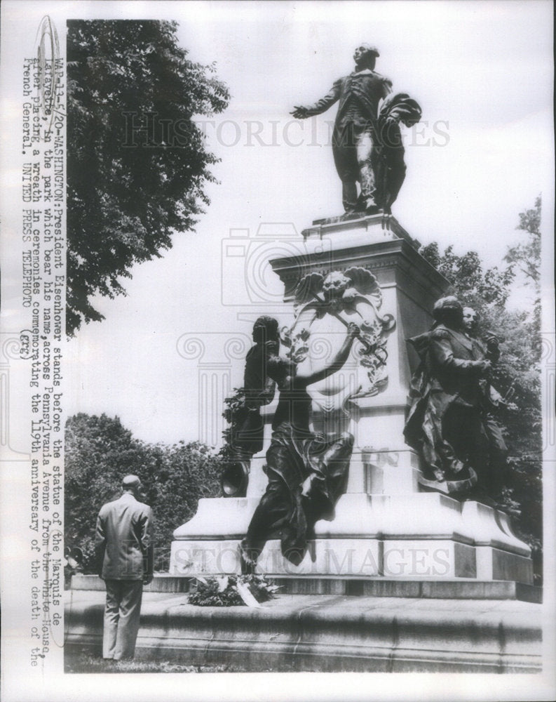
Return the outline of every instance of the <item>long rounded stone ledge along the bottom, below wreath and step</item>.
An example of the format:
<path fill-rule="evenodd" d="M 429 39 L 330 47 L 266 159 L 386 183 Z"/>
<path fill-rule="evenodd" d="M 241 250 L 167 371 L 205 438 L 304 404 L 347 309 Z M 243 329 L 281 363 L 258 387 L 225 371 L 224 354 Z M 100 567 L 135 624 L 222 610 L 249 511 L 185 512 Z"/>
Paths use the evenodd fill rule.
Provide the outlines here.
<path fill-rule="evenodd" d="M 163 579 L 164 588 L 170 581 L 187 582 L 187 578 Z M 317 581 L 311 578 L 310 582 Z M 421 592 L 421 596 L 395 597 L 395 590 L 388 594 L 384 588 L 388 582 L 392 583 L 381 580 L 383 587 L 376 592 L 360 590 L 359 597 L 336 592 L 281 595 L 261 609 L 194 607 L 188 604 L 187 594 L 147 591 L 135 658 L 240 672 L 541 670 L 542 608 L 508 598 L 510 583 L 486 583 L 482 593 L 474 593 L 483 595 L 477 602 L 470 597 L 452 599 L 452 585 L 438 581 L 414 584 L 414 593 Z M 410 583 L 396 584 L 398 592 L 409 592 Z M 430 599 L 430 594 L 442 595 L 439 585 L 447 586 L 444 596 Z M 377 592 L 382 596 L 377 597 Z M 485 599 L 488 592 L 494 597 Z M 102 656 L 104 598 L 101 591 L 66 592 L 68 672 L 80 672 L 81 653 Z"/>

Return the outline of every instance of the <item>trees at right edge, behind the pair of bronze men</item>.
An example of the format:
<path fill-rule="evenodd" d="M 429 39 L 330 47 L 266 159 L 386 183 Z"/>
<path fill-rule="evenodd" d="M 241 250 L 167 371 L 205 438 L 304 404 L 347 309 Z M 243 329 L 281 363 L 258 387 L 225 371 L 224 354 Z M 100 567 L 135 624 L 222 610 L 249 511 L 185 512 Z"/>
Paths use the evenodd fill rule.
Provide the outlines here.
<path fill-rule="evenodd" d="M 506 506 L 517 513 L 517 531 L 533 550 L 537 579 L 542 542 L 542 416 L 540 327 L 541 199 L 520 213 L 522 241 L 508 248 L 508 265 L 486 269 L 475 251 L 458 256 L 452 246 L 440 253 L 438 244 L 421 249 L 451 283 L 447 291 L 480 314 L 478 336 L 492 332 L 501 340 L 501 359 L 492 384 L 505 397 L 497 416 L 508 444 Z M 536 300 L 522 310 L 508 309 L 517 270 L 533 286 Z M 522 298 L 524 299 L 524 298 Z"/>

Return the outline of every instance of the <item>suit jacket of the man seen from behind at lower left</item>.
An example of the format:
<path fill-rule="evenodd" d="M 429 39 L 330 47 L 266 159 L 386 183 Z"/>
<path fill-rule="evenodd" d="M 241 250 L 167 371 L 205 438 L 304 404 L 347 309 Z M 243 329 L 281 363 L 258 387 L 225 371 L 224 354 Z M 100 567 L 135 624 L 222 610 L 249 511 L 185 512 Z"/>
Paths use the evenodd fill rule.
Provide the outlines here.
<path fill-rule="evenodd" d="M 153 572 L 153 519 L 149 505 L 130 493 L 102 506 L 95 555 L 104 580 L 142 580 Z"/>

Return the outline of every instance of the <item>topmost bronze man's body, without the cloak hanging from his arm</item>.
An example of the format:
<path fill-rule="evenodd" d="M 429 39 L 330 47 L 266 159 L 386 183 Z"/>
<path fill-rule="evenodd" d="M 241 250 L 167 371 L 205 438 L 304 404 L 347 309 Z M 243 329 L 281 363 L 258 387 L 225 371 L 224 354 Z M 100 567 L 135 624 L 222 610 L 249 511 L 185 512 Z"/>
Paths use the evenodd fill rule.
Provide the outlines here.
<path fill-rule="evenodd" d="M 339 100 L 332 134 L 334 164 L 342 183 L 342 201 L 346 214 L 378 211 L 377 187 L 371 163 L 372 147 L 377 140 L 379 102 L 391 93 L 392 84 L 374 72 L 379 52 L 374 46 L 361 44 L 353 53 L 355 71 L 337 80 L 330 93 L 311 107 L 296 105 L 291 114 L 306 119 L 325 112 Z M 361 192 L 357 197 L 359 181 Z"/>

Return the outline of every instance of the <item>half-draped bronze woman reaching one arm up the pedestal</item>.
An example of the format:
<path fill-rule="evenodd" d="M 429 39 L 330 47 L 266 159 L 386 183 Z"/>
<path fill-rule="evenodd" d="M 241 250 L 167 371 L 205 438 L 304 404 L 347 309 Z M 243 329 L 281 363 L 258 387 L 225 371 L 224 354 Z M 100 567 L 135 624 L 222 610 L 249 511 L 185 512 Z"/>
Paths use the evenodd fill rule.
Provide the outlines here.
<path fill-rule="evenodd" d="M 357 324 L 349 324 L 337 354 L 310 373 L 298 372 L 290 359 L 269 358 L 268 373 L 278 383 L 280 399 L 266 451 L 264 470 L 269 484 L 240 544 L 243 573 L 255 571 L 270 538 L 280 538 L 283 556 L 299 565 L 318 519 L 334 518 L 334 506 L 346 489 L 353 435 L 342 432 L 325 438 L 311 433 L 307 386 L 341 369 L 359 333 Z"/>

